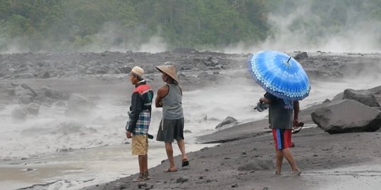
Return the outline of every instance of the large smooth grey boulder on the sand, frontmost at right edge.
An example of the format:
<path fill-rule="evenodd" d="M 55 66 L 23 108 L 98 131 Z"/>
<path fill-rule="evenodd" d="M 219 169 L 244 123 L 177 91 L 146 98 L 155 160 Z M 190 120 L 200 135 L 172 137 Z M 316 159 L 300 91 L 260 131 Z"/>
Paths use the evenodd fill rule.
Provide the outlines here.
<path fill-rule="evenodd" d="M 375 132 L 381 127 L 381 112 L 358 101 L 343 99 L 325 104 L 311 118 L 329 134 Z"/>

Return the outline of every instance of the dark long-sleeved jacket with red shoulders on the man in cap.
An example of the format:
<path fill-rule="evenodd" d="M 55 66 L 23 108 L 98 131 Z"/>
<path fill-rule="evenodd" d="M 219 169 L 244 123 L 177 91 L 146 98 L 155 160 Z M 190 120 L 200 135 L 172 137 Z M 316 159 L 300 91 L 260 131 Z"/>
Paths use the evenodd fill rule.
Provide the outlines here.
<path fill-rule="evenodd" d="M 128 126 L 126 126 L 128 132 L 133 132 L 139 115 L 143 110 L 150 110 L 151 112 L 153 94 L 150 85 L 144 80 L 135 84 L 135 89 L 131 96 L 130 119 Z"/>

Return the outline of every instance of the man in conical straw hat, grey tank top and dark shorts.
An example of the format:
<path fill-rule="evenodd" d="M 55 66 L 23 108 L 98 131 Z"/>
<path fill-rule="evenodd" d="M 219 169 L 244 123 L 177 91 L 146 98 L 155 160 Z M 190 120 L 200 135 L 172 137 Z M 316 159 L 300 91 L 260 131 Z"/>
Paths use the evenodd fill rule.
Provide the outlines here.
<path fill-rule="evenodd" d="M 181 87 L 179 87 L 179 79 L 176 75 L 176 69 L 172 65 L 157 66 L 157 70 L 162 72 L 162 80 L 167 82 L 157 91 L 155 105 L 157 108 L 163 108 L 163 118 L 157 132 L 157 141 L 164 141 L 165 151 L 169 160 L 169 168 L 164 172 L 176 172 L 174 163 L 174 151 L 172 142 L 174 139 L 181 151 L 181 166 L 189 165 L 188 157 L 186 156 L 185 142 L 183 136 L 184 116 L 182 107 Z"/>

